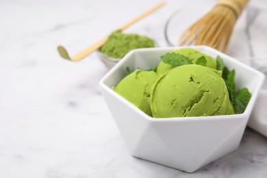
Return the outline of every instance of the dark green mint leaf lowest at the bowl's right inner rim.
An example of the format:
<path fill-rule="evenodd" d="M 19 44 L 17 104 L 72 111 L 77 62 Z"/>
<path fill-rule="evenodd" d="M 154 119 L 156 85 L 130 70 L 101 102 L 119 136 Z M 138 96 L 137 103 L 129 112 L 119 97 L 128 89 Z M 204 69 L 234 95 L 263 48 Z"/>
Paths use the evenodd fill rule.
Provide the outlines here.
<path fill-rule="evenodd" d="M 233 109 L 236 114 L 241 114 L 246 110 L 246 105 L 248 105 L 249 100 L 251 99 L 251 93 L 248 88 L 242 88 L 236 92 L 234 96 Z"/>

